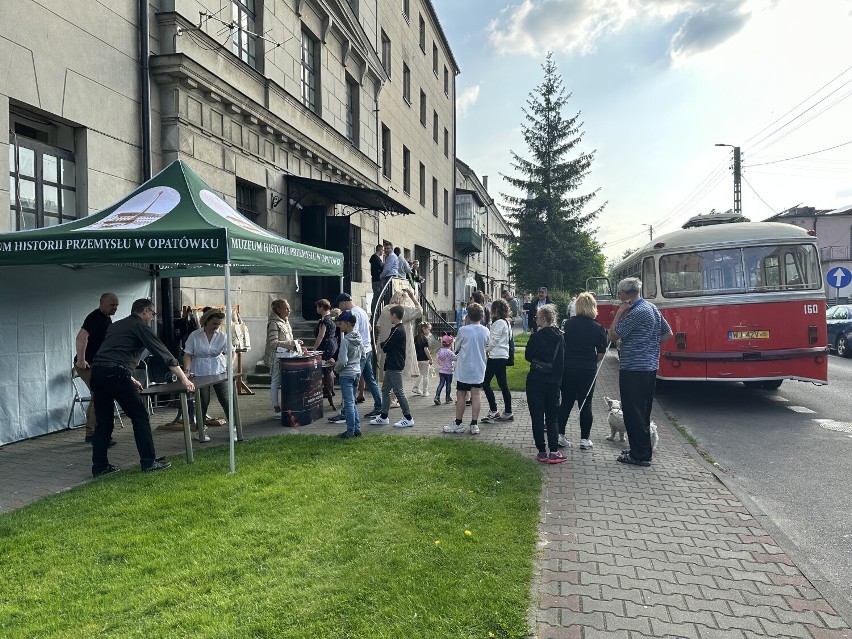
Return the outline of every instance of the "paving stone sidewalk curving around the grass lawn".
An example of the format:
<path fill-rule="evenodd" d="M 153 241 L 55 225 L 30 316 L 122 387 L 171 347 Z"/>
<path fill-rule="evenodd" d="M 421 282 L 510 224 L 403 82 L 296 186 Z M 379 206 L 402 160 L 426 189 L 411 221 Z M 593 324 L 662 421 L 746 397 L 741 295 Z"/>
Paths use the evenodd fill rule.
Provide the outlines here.
<path fill-rule="evenodd" d="M 618 397 L 617 366 L 616 358 L 608 356 L 598 380 L 594 449 L 570 448 L 568 462 L 541 466 L 540 555 L 530 636 L 852 639 L 847 622 L 734 494 L 687 452 L 658 408 L 654 419 L 660 444 L 653 466 L 615 462 L 623 446 L 604 440 L 609 428 L 603 397 Z M 282 428 L 271 414 L 268 390 L 256 390 L 254 396 L 239 398 L 247 438 L 341 430 L 326 423 Z M 515 421 L 483 425 L 479 438 L 532 458 L 526 402 L 523 393 L 513 397 Z M 411 403 L 413 428 L 365 425 L 365 432 L 471 437 L 440 432 L 451 421 L 453 406 L 434 406 L 431 397 L 414 397 Z M 362 413 L 370 408 L 369 403 L 360 407 Z M 213 402 L 214 416 L 217 408 Z M 158 409 L 152 424 L 168 422 L 174 414 L 175 409 Z M 227 443 L 227 429 L 208 433 L 212 441 L 194 441 L 196 450 Z M 83 435 L 82 429 L 62 431 L 0 447 L 0 513 L 90 481 L 91 448 Z M 576 415 L 568 436 L 579 439 Z M 138 472 L 129 424 L 117 428 L 115 438 L 110 461 L 128 469 L 123 472 Z M 181 432 L 156 430 L 154 438 L 158 454 L 182 456 Z M 239 466 L 237 448 L 238 472 Z"/>

